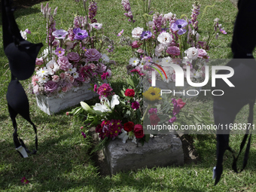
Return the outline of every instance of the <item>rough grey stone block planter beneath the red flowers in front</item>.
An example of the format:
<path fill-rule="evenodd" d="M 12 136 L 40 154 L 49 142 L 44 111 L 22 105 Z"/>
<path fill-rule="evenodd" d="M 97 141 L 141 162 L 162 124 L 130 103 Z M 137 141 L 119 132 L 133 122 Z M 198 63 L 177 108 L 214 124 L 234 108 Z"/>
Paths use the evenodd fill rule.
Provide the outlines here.
<path fill-rule="evenodd" d="M 163 166 L 183 166 L 184 154 L 181 139 L 174 134 L 161 134 L 137 146 L 130 139 L 123 143 L 114 139 L 103 153 L 112 175 L 117 172 Z"/>

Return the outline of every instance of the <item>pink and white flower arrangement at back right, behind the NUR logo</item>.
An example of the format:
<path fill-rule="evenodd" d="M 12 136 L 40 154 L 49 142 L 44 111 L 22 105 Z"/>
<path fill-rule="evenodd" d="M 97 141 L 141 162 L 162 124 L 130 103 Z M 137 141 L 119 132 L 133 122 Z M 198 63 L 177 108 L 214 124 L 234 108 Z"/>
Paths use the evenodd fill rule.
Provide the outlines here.
<path fill-rule="evenodd" d="M 123 0 L 122 5 L 125 11 L 131 10 L 129 0 Z M 144 5 L 142 18 L 145 25 L 134 28 L 132 38 L 120 37 L 120 43 L 129 45 L 134 51 L 134 56 L 130 58 L 130 63 L 126 67 L 127 71 L 136 70 L 141 75 L 151 77 L 151 72 L 156 70 L 149 67 L 152 63 L 160 66 L 175 63 L 181 66 L 184 72 L 189 67 L 192 81 L 202 82 L 205 77 L 205 66 L 209 62 L 207 50 L 212 40 L 217 39 L 219 33 L 227 34 L 218 23 L 219 19 L 214 20 L 209 36 L 206 37 L 207 40 L 200 41 L 197 18 L 201 5 L 198 2 L 193 5 L 190 18 L 182 15 L 180 19 L 172 12 L 153 14 L 153 11 L 150 11 L 151 0 L 144 1 Z M 128 11 L 129 15 L 132 15 L 131 13 Z M 163 81 L 175 81 L 175 71 L 170 67 L 163 67 L 163 69 L 167 76 Z M 157 74 L 157 78 L 161 79 L 161 75 Z"/>

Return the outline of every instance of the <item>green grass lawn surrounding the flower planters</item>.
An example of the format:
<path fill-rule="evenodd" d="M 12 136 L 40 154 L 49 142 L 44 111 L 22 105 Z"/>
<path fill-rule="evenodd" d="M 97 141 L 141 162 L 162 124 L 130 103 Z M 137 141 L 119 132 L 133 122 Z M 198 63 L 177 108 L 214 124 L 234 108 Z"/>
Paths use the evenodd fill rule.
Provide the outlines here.
<path fill-rule="evenodd" d="M 114 53 L 108 53 L 111 59 L 117 62 L 112 66 L 114 89 L 122 87 L 126 77 L 125 66 L 129 62 L 132 52 L 129 47 L 121 47 L 117 33 L 124 29 L 123 35 L 130 35 L 136 26 L 142 26 L 142 0 L 130 0 L 136 23 L 128 23 L 123 16 L 121 0 L 99 0 L 96 18 L 103 23 L 105 35 L 116 41 Z M 214 3 L 215 2 L 215 3 Z M 44 5 L 46 2 L 44 2 Z M 193 1 L 166 0 L 152 1 L 152 10 L 167 14 L 172 12 L 180 17 L 187 14 L 190 17 Z M 227 31 L 227 35 L 212 43 L 209 50 L 211 58 L 231 58 L 230 42 L 232 40 L 233 23 L 236 17 L 236 8 L 227 0 L 200 1 L 201 14 L 200 35 L 206 34 L 205 29 L 212 26 L 213 20 L 218 17 Z M 67 29 L 73 21 L 74 14 L 80 11 L 73 0 L 50 0 L 50 7 L 58 6 L 56 29 Z M 40 12 L 40 5 L 32 8 L 20 9 L 15 12 L 17 23 L 21 30 L 30 29 L 30 41 L 45 44 L 45 23 Z M 2 37 L 2 29 L 0 29 Z M 202 39 L 200 39 L 202 40 Z M 2 47 L 2 40 L 0 41 Z M 43 50 L 43 48 L 42 48 Z M 254 53 L 255 54 L 255 53 Z M 66 111 L 48 116 L 40 111 L 36 105 L 35 96 L 29 93 L 28 85 L 31 79 L 23 81 L 30 104 L 32 121 L 38 127 L 38 154 L 22 159 L 14 148 L 12 139 L 13 126 L 8 116 L 5 94 L 11 73 L 8 71 L 8 59 L 3 49 L 0 50 L 0 191 L 255 191 L 256 190 L 256 145 L 255 136 L 252 138 L 250 158 L 245 171 L 236 174 L 231 169 L 232 156 L 224 156 L 224 172 L 218 186 L 212 180 L 212 168 L 215 166 L 215 135 L 193 136 L 194 146 L 199 154 L 200 161 L 181 167 L 165 167 L 154 169 L 140 169 L 138 171 L 120 172 L 117 175 L 99 175 L 99 168 L 90 156 L 92 138 L 81 136 L 80 120 L 66 116 Z M 93 104 L 93 101 L 91 101 Z M 200 107 L 212 114 L 212 97 L 198 97 L 186 99 L 187 109 Z M 256 113 L 254 112 L 254 115 Z M 247 123 L 248 106 L 236 118 L 236 123 Z M 254 117 L 254 119 L 256 119 Z M 22 117 L 17 117 L 18 133 L 29 149 L 34 148 L 34 132 Z M 231 135 L 230 146 L 236 151 L 242 136 Z M 242 156 L 241 156 L 242 157 Z M 146 161 L 146 160 L 145 160 Z M 242 163 L 239 161 L 239 166 Z M 20 179 L 26 176 L 29 184 L 22 184 Z"/>

